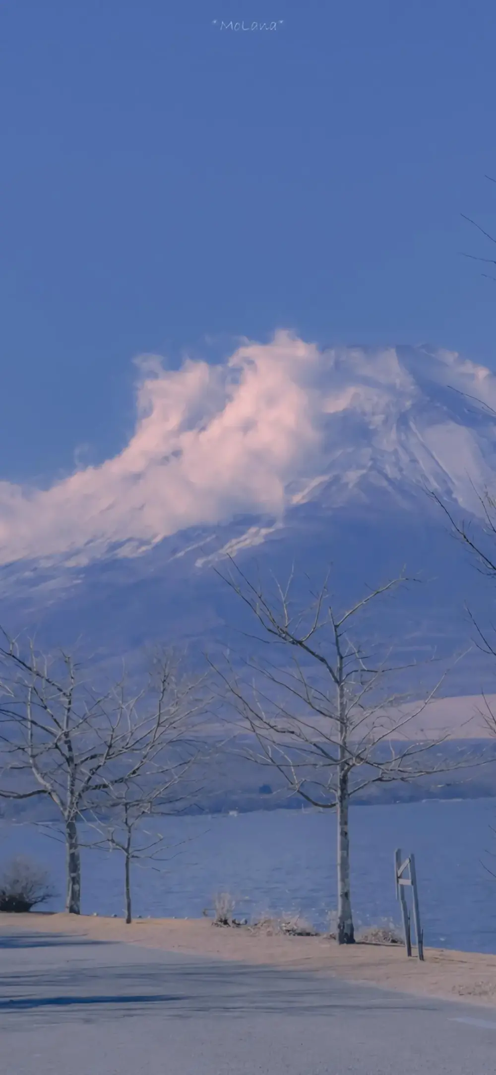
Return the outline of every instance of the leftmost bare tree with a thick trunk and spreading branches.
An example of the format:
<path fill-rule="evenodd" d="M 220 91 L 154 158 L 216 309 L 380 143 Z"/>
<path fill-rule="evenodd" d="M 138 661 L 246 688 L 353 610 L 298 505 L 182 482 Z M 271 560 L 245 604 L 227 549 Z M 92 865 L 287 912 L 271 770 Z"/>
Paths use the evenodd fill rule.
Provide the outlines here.
<path fill-rule="evenodd" d="M 64 651 L 48 659 L 3 632 L 0 644 L 0 798 L 48 799 L 67 848 L 67 903 L 81 913 L 78 826 L 111 789 L 130 784 L 189 720 L 201 717 L 205 677 L 180 678 L 174 660 L 155 662 L 136 693 L 120 680 L 103 691 Z"/>

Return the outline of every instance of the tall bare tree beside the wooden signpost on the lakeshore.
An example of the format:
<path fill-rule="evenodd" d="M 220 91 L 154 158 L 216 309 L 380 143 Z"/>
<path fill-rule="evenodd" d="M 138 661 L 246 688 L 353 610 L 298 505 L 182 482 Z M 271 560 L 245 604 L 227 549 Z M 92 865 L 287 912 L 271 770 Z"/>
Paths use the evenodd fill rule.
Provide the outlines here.
<path fill-rule="evenodd" d="M 258 743 L 253 758 L 276 766 L 289 788 L 307 803 L 336 809 L 337 940 L 352 944 L 350 800 L 373 785 L 411 780 L 453 768 L 442 751 L 434 749 L 448 735 L 433 740 L 422 732 L 419 736 L 418 718 L 443 676 L 421 702 L 412 702 L 411 692 L 391 692 L 388 686 L 399 673 L 417 665 L 394 668 L 389 653 L 378 659 L 350 633 L 370 605 L 375 610 L 381 598 L 408 582 L 405 575 L 369 590 L 339 613 L 330 601 L 325 579 L 312 594 L 310 606 L 293 614 L 293 573 L 283 590 L 276 582 L 277 596 L 271 600 L 260 584 L 253 585 L 231 562 L 235 576 L 220 577 L 262 627 L 262 639 L 258 637 L 265 644 L 262 651 L 267 651 L 267 643 L 273 645 L 266 657 L 243 659 L 243 669 L 250 670 L 249 682 L 233 666 L 229 655 L 227 669 L 213 668 L 223 685 L 224 702 L 234 710 L 237 721 L 242 717 L 242 727 L 248 726 Z M 283 659 L 274 662 L 272 654 L 277 646 L 282 647 Z"/>

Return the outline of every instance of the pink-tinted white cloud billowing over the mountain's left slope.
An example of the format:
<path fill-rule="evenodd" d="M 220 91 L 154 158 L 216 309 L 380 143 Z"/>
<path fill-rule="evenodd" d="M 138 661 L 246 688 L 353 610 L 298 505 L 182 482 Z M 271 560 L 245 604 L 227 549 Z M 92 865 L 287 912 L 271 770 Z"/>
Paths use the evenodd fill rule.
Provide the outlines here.
<path fill-rule="evenodd" d="M 137 420 L 127 447 L 47 490 L 0 483 L 0 562 L 72 555 L 111 543 L 147 546 L 235 513 L 285 507 L 285 485 L 318 448 L 317 347 L 276 333 L 246 342 L 222 366 L 177 371 L 138 361 Z"/>

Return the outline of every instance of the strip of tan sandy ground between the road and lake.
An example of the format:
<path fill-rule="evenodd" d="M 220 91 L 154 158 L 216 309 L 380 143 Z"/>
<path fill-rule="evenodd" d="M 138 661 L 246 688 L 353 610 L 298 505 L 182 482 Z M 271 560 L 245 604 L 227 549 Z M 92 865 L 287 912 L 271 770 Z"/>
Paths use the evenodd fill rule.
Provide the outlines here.
<path fill-rule="evenodd" d="M 0 914 L 0 932 L 35 930 L 72 933 L 128 944 L 306 971 L 321 971 L 349 981 L 496 1007 L 496 956 L 426 948 L 425 961 L 408 959 L 395 945 L 339 947 L 324 936 L 297 937 L 249 928 L 216 927 L 206 918 L 121 919 L 67 914 Z"/>

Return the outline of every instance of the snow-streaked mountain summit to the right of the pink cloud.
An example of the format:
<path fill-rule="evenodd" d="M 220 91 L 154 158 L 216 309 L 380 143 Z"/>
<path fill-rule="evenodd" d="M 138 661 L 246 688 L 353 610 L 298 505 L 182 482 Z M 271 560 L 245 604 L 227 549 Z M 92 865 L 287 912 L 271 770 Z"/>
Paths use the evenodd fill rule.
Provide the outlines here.
<path fill-rule="evenodd" d="M 487 411 L 496 408 L 496 377 L 488 370 L 424 347 L 325 358 L 321 472 L 293 502 L 322 496 L 329 483 L 329 506 L 369 499 L 374 487 L 402 498 L 423 485 L 480 510 L 472 482 L 490 482 L 496 462 L 496 415 Z"/>

